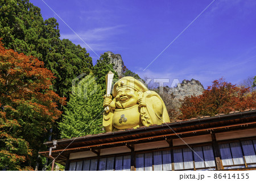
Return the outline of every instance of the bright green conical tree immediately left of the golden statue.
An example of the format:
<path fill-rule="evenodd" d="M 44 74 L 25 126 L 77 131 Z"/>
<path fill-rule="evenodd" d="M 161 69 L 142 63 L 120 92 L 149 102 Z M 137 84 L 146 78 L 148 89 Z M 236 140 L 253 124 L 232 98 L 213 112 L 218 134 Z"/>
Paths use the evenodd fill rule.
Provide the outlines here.
<path fill-rule="evenodd" d="M 75 94 L 70 95 L 59 123 L 61 138 L 72 138 L 103 132 L 102 112 L 104 90 L 92 73 L 77 83 Z"/>

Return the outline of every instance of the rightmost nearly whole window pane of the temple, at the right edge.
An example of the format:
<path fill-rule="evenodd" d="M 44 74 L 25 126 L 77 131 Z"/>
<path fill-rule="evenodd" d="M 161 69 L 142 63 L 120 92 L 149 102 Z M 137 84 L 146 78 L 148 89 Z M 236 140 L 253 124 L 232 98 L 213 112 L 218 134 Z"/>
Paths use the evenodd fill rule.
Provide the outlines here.
<path fill-rule="evenodd" d="M 255 163 L 256 156 L 252 141 L 242 141 L 243 153 L 245 154 L 246 163 Z"/>

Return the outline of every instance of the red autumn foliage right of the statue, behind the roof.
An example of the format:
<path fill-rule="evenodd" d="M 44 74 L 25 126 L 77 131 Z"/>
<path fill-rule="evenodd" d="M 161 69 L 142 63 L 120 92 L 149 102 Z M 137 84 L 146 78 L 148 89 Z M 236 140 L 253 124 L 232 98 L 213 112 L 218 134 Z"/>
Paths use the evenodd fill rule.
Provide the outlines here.
<path fill-rule="evenodd" d="M 221 78 L 213 81 L 213 85 L 203 94 L 185 97 L 181 103 L 179 118 L 214 116 L 217 113 L 243 111 L 248 108 L 256 108 L 256 91 L 250 92 L 250 88 L 232 85 Z"/>

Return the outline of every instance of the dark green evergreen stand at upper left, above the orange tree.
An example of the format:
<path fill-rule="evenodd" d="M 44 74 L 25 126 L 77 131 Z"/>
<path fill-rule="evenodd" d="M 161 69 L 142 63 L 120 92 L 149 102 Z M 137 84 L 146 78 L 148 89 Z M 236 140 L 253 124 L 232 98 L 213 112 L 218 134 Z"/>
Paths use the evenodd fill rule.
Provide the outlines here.
<path fill-rule="evenodd" d="M 39 7 L 28 0 L 0 2 L 0 37 L 6 48 L 43 61 L 54 73 L 53 89 L 61 97 L 68 98 L 72 79 L 81 73 L 89 74 L 93 68 L 85 48 L 60 40 L 56 19 L 44 21 Z"/>

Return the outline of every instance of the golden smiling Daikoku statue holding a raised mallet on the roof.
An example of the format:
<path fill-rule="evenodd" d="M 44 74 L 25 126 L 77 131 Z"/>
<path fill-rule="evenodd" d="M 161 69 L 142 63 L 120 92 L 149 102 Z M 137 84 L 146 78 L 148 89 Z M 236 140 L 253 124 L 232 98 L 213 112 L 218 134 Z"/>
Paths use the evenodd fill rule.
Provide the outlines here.
<path fill-rule="evenodd" d="M 112 100 L 110 90 L 113 76 L 111 71 L 106 75 L 103 103 L 103 126 L 106 132 L 170 122 L 160 96 L 133 77 L 123 77 L 114 84 Z"/>

